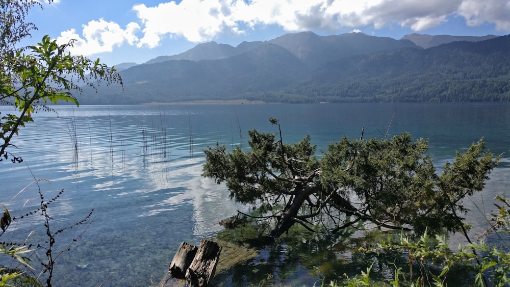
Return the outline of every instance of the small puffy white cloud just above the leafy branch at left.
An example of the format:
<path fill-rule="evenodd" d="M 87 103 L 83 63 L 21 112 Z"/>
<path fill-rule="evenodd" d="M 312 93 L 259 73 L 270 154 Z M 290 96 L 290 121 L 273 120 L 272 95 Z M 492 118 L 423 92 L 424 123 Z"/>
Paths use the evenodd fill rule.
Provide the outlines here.
<path fill-rule="evenodd" d="M 74 39 L 74 46 L 70 48 L 71 54 L 88 56 L 111 52 L 114 46 L 136 44 L 139 39 L 135 33 L 139 30 L 140 26 L 135 22 L 127 24 L 126 28 L 122 29 L 115 22 L 92 20 L 83 25 L 82 35 L 78 35 L 75 29 L 67 30 L 60 34 L 57 42 L 62 44 Z"/>

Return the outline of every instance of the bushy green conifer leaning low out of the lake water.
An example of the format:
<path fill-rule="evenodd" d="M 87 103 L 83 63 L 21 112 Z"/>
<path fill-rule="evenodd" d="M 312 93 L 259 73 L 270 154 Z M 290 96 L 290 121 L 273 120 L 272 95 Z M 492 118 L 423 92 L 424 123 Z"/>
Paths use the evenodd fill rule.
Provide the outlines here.
<path fill-rule="evenodd" d="M 216 144 L 205 150 L 202 176 L 225 182 L 230 197 L 258 210 L 239 212 L 269 222 L 267 235 L 279 237 L 298 223 L 310 231 L 337 232 L 357 223 L 414 230 L 420 234 L 463 232 L 468 226 L 462 201 L 481 191 L 500 156 L 483 140 L 456 154 L 438 175 L 428 142 L 408 133 L 391 139 L 350 140 L 328 145 L 321 158 L 309 136 L 286 144 L 277 134 L 249 131 L 250 150 L 227 151 Z"/>

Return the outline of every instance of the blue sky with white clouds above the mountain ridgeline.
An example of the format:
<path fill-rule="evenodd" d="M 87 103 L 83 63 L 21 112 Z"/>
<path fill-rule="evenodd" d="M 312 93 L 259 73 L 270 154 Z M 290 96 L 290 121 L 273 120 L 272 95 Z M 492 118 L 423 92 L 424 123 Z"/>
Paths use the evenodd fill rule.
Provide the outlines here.
<path fill-rule="evenodd" d="M 362 32 L 400 39 L 406 34 L 508 35 L 510 0 L 39 0 L 28 20 L 67 43 L 71 54 L 107 65 L 144 63 L 199 43 L 237 46 L 287 33 Z M 45 2 L 43 2 L 45 1 Z"/>

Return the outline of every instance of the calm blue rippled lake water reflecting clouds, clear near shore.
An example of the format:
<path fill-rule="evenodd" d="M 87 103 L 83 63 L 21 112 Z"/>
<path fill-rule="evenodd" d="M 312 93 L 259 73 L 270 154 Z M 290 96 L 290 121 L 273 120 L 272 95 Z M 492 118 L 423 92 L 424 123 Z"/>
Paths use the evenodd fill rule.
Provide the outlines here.
<path fill-rule="evenodd" d="M 60 249 L 78 239 L 57 258 L 58 286 L 146 286 L 159 282 L 182 241 L 198 244 L 220 230 L 220 219 L 243 208 L 230 201 L 224 187 L 200 176 L 203 152 L 216 142 L 247 146 L 248 129 L 276 132 L 269 117 L 279 119 L 284 141 L 310 134 L 318 149 L 342 135 L 381 137 L 410 132 L 429 139 L 438 165 L 452 160 L 480 138 L 494 153 L 510 149 L 510 105 L 338 104 L 240 106 L 81 106 L 37 113 L 12 142 L 10 152 L 21 164 L 2 162 L 0 202 L 18 216 L 39 206 L 34 177 L 46 199 L 65 189 L 49 208 L 53 230 L 94 213 L 85 224 L 57 236 Z M 2 114 L 12 111 L 0 107 Z M 240 135 L 239 131 L 242 131 Z M 74 148 L 73 142 L 77 144 Z M 466 205 L 490 213 L 494 195 L 510 184 L 505 154 L 482 195 Z M 22 192 L 20 192 L 22 191 Z M 20 193 L 19 193 L 20 192 Z M 19 194 L 18 194 L 19 193 Z M 483 209 L 483 205 L 486 209 Z M 483 216 L 470 215 L 473 233 L 486 227 Z M 19 220 L 2 241 L 45 240 L 41 217 Z M 461 240 L 453 238 L 452 240 Z M 59 249 L 59 250 L 60 250 Z M 55 253 L 57 254 L 57 253 Z M 0 258 L 6 260 L 6 258 Z M 35 267 L 37 263 L 33 263 Z M 320 281 L 307 267 L 280 274 L 292 285 Z M 151 278 L 152 276 L 152 278 Z M 257 282 L 253 282 L 258 284 Z"/>

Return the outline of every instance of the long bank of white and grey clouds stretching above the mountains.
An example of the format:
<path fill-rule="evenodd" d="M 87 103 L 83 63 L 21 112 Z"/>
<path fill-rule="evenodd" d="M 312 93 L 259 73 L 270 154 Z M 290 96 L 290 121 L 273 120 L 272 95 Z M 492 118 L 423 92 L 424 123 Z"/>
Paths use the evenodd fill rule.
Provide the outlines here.
<path fill-rule="evenodd" d="M 471 26 L 493 23 L 501 31 L 510 31 L 510 0 L 182 0 L 154 7 L 137 4 L 132 10 L 139 24 L 132 22 L 121 29 L 100 19 L 84 25 L 82 36 L 69 30 L 59 38 L 77 38 L 77 53 L 90 55 L 122 44 L 154 48 L 165 37 L 210 41 L 267 25 L 288 32 L 336 33 L 392 24 L 423 31 L 448 17 L 461 16 Z"/>

